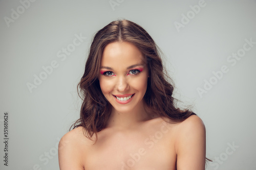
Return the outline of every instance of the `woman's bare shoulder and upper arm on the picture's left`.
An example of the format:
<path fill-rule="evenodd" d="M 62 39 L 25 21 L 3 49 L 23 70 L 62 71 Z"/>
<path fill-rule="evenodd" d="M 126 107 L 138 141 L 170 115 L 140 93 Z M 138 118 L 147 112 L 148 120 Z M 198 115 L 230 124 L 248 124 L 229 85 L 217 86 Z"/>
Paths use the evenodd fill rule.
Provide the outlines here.
<path fill-rule="evenodd" d="M 83 128 L 78 127 L 62 136 L 58 146 L 60 170 L 84 169 L 82 159 L 86 154 L 90 140 L 83 134 Z"/>

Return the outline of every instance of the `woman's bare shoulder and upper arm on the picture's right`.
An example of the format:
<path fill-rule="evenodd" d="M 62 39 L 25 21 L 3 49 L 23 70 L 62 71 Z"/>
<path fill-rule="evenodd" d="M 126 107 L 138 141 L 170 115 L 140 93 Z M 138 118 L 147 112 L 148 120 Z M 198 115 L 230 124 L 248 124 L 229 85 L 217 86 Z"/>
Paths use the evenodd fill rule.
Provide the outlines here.
<path fill-rule="evenodd" d="M 202 119 L 191 115 L 176 130 L 177 169 L 205 169 L 206 135 Z"/>

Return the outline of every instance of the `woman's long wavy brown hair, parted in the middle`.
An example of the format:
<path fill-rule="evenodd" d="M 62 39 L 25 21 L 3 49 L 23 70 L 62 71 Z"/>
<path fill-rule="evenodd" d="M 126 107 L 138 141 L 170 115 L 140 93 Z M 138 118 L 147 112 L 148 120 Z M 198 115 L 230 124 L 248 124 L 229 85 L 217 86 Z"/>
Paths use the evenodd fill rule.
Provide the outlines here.
<path fill-rule="evenodd" d="M 86 131 L 85 135 L 92 139 L 94 134 L 105 128 L 111 114 L 111 104 L 101 92 L 97 77 L 104 47 L 116 41 L 134 44 L 144 56 L 150 76 L 144 95 L 147 109 L 162 118 L 173 119 L 177 123 L 195 114 L 188 108 L 177 107 L 178 100 L 173 97 L 174 82 L 163 67 L 160 49 L 152 37 L 141 26 L 122 19 L 109 23 L 93 38 L 84 74 L 77 85 L 78 95 L 82 99 L 80 118 L 70 130 L 72 127 L 75 129 L 82 126 Z"/>

